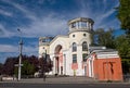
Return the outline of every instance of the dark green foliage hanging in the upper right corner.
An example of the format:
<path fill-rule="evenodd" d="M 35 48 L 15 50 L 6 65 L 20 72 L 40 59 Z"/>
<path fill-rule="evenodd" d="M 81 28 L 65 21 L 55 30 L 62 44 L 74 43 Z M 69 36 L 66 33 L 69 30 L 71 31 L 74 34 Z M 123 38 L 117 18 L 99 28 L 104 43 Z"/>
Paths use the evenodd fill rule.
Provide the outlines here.
<path fill-rule="evenodd" d="M 130 38 L 130 0 L 119 0 L 119 2 L 117 17 L 121 22 L 121 28 L 126 30 Z"/>

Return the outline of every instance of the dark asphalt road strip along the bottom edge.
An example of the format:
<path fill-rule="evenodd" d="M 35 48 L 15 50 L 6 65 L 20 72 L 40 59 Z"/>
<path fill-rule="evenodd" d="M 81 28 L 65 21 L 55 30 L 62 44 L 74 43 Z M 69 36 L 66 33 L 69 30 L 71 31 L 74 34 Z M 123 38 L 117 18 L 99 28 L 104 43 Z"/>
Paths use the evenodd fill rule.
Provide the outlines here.
<path fill-rule="evenodd" d="M 130 88 L 130 84 L 31 84 L 0 83 L 0 88 Z"/>

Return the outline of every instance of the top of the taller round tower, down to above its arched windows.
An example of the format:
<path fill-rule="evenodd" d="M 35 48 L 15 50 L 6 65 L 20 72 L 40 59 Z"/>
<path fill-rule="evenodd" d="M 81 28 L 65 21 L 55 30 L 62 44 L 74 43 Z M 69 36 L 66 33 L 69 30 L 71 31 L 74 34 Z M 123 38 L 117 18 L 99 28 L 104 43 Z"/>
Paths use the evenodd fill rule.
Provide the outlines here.
<path fill-rule="evenodd" d="M 80 43 L 82 39 L 86 39 L 88 46 L 91 45 L 91 33 L 93 32 L 93 20 L 87 17 L 78 17 L 68 21 L 69 38 L 72 40 L 77 40 L 77 43 Z"/>

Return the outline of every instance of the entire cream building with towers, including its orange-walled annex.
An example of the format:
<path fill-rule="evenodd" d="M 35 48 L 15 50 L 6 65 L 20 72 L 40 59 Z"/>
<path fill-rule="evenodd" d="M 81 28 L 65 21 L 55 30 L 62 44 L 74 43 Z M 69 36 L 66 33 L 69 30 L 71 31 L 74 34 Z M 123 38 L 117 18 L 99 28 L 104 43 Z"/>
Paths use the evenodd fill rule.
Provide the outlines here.
<path fill-rule="evenodd" d="M 53 62 L 50 75 L 89 76 L 105 80 L 110 79 L 108 74 L 113 73 L 113 79 L 121 79 L 121 63 L 117 51 L 90 47 L 93 24 L 91 18 L 78 17 L 68 21 L 69 32 L 66 36 L 39 38 L 39 58 L 46 52 Z M 110 71 L 112 66 L 114 72 Z"/>

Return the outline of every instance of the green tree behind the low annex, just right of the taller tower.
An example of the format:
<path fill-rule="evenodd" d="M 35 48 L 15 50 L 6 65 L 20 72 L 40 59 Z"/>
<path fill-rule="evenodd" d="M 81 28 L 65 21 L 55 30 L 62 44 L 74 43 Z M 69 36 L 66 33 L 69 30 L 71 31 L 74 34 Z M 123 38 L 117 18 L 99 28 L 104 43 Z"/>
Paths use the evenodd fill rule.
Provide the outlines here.
<path fill-rule="evenodd" d="M 114 30 L 109 28 L 108 30 L 104 30 L 103 28 L 99 28 L 94 32 L 94 42 L 96 46 L 105 46 L 107 48 L 115 48 L 114 43 Z"/>

